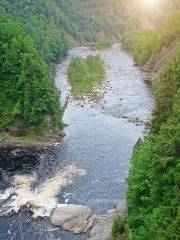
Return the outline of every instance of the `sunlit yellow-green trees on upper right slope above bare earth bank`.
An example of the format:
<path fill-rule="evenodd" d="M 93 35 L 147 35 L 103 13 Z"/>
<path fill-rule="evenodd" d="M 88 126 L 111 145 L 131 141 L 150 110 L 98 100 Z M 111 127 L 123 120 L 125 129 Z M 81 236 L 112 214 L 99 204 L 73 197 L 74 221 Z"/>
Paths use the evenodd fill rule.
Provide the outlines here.
<path fill-rule="evenodd" d="M 154 30 L 138 30 L 124 34 L 123 45 L 133 54 L 138 65 L 150 61 L 163 48 L 180 36 L 180 10 L 173 12 L 166 22 Z"/>

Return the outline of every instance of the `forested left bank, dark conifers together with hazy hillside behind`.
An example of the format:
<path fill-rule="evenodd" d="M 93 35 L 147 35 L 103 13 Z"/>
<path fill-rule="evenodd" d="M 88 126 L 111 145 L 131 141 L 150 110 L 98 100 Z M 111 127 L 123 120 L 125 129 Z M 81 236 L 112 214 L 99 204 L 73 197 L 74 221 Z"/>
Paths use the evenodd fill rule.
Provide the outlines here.
<path fill-rule="evenodd" d="M 60 130 L 51 64 L 64 57 L 70 39 L 94 42 L 101 32 L 118 37 L 133 27 L 116 0 L 2 0 L 0 14 L 0 127 L 18 136 Z"/>

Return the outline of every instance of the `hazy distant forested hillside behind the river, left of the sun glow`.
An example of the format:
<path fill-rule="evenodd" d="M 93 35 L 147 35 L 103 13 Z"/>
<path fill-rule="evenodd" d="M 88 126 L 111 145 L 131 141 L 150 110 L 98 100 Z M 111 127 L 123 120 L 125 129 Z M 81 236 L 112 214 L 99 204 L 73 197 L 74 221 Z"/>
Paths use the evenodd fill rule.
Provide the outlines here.
<path fill-rule="evenodd" d="M 69 36 L 96 41 L 98 32 L 119 35 L 133 23 L 123 3 L 80 0 L 1 0 L 0 12 L 6 14 L 31 35 L 46 62 L 62 57 Z"/>

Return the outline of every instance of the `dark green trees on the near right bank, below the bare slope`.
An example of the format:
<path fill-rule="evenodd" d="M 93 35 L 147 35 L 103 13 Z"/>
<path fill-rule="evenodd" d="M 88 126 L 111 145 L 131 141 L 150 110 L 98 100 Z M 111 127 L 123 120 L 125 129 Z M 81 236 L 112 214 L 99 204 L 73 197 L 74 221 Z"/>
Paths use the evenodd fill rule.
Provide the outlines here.
<path fill-rule="evenodd" d="M 180 49 L 154 80 L 150 135 L 136 146 L 128 177 L 132 239 L 179 239 Z"/>

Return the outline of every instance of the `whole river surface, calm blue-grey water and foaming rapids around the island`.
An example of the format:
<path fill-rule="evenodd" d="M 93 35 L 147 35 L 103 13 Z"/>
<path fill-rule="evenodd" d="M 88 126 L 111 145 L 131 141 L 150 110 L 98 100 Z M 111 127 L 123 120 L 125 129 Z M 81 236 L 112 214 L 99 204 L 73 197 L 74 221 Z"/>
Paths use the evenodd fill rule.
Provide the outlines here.
<path fill-rule="evenodd" d="M 101 98 L 77 101 L 70 96 L 67 67 L 73 56 L 89 54 L 99 54 L 106 64 L 104 84 L 97 89 Z M 16 158 L 17 151 L 8 161 L 1 157 L 0 240 L 87 239 L 49 224 L 57 204 L 84 204 L 104 213 L 125 198 L 133 146 L 153 109 L 148 77 L 118 44 L 100 52 L 69 51 L 55 79 L 62 105 L 69 98 L 66 136 L 56 149 L 36 157 Z"/>

